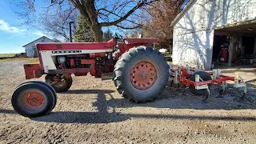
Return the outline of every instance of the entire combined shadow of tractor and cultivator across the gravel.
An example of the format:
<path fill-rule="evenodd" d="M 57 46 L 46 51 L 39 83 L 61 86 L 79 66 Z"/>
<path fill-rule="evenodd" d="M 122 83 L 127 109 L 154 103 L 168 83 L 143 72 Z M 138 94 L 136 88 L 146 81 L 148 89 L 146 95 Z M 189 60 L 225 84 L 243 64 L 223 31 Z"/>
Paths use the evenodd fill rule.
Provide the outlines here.
<path fill-rule="evenodd" d="M 212 86 L 210 98 L 202 102 L 200 97 L 196 97 L 186 91 L 182 94 L 182 89 L 164 90 L 159 98 L 154 102 L 134 103 L 127 102 L 124 98 L 114 98 L 114 90 L 70 90 L 68 94 L 97 94 L 97 101 L 93 106 L 97 107 L 97 112 L 74 112 L 57 111 L 39 117 L 31 118 L 40 122 L 57 123 L 110 123 L 123 122 L 130 118 L 173 118 L 173 119 L 197 119 L 197 120 L 224 120 L 224 121 L 256 121 L 254 117 L 211 117 L 204 115 L 172 115 L 172 114 L 122 114 L 116 112 L 117 108 L 130 107 L 154 107 L 169 109 L 194 109 L 194 110 L 243 110 L 256 109 L 256 94 L 254 85 L 248 84 L 248 94 L 244 101 L 239 101 L 240 89 L 229 88 L 223 98 L 214 98 L 218 95 L 218 86 Z M 255 100 L 255 101 L 254 101 Z M 252 102 L 254 101 L 254 102 Z M 109 111 L 113 109 L 111 112 Z"/>

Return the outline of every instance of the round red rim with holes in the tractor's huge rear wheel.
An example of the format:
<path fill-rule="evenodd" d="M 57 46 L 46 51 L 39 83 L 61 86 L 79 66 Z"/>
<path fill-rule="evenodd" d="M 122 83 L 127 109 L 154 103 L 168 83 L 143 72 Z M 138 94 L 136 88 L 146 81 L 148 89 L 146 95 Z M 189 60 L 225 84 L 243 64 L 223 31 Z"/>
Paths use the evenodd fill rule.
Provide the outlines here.
<path fill-rule="evenodd" d="M 157 70 L 150 62 L 138 62 L 130 70 L 130 82 L 138 90 L 149 89 L 157 78 Z"/>

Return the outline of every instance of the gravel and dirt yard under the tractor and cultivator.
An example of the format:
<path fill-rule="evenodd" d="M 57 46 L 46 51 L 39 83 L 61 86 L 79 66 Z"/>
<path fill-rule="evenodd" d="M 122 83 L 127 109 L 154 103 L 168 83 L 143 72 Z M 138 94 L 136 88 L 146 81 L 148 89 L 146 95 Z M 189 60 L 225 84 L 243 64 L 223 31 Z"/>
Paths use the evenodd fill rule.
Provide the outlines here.
<path fill-rule="evenodd" d="M 215 98 L 218 86 L 212 86 L 206 102 L 166 87 L 156 101 L 135 104 L 122 98 L 111 80 L 73 77 L 50 114 L 25 118 L 10 102 L 15 87 L 26 82 L 25 62 L 0 62 L 0 143 L 256 142 L 256 82 L 247 83 L 244 101 L 242 89 L 232 87 Z"/>

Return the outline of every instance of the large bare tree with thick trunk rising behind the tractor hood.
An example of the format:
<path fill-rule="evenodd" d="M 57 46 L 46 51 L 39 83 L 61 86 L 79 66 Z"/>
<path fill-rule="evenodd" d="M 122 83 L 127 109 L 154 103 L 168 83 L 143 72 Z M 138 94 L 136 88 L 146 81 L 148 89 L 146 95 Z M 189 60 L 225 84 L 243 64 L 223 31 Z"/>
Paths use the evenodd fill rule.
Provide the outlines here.
<path fill-rule="evenodd" d="M 46 0 L 41 1 L 48 2 Z M 62 14 L 63 10 L 66 11 L 63 13 L 66 14 L 66 16 L 77 11 L 85 20 L 86 25 L 90 26 L 94 34 L 95 42 L 102 42 L 103 26 L 118 26 L 122 29 L 136 28 L 139 26 L 138 22 L 131 20 L 130 16 L 135 14 L 136 10 L 149 6 L 156 1 L 158 0 L 51 0 L 48 2 L 47 7 L 41 7 L 39 10 L 45 10 L 43 15 L 45 15 L 48 20 L 48 17 Z M 36 0 L 21 0 L 16 3 L 16 6 L 20 8 L 17 14 L 20 18 L 26 18 L 26 24 L 31 24 L 33 19 L 38 17 L 35 2 Z M 64 20 L 66 18 L 64 18 Z M 122 22 L 124 21 L 131 22 L 133 25 L 123 26 Z M 58 22 L 57 20 L 57 22 L 49 22 L 48 24 L 64 22 Z"/>

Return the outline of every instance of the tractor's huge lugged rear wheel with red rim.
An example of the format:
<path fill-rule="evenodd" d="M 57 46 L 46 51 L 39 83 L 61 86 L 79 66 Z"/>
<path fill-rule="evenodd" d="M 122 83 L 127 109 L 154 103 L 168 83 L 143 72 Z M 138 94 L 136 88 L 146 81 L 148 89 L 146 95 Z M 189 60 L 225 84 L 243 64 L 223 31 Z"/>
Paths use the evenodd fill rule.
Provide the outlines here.
<path fill-rule="evenodd" d="M 114 85 L 119 94 L 134 102 L 154 101 L 169 77 L 166 58 L 148 46 L 134 47 L 122 54 L 114 69 Z"/>

